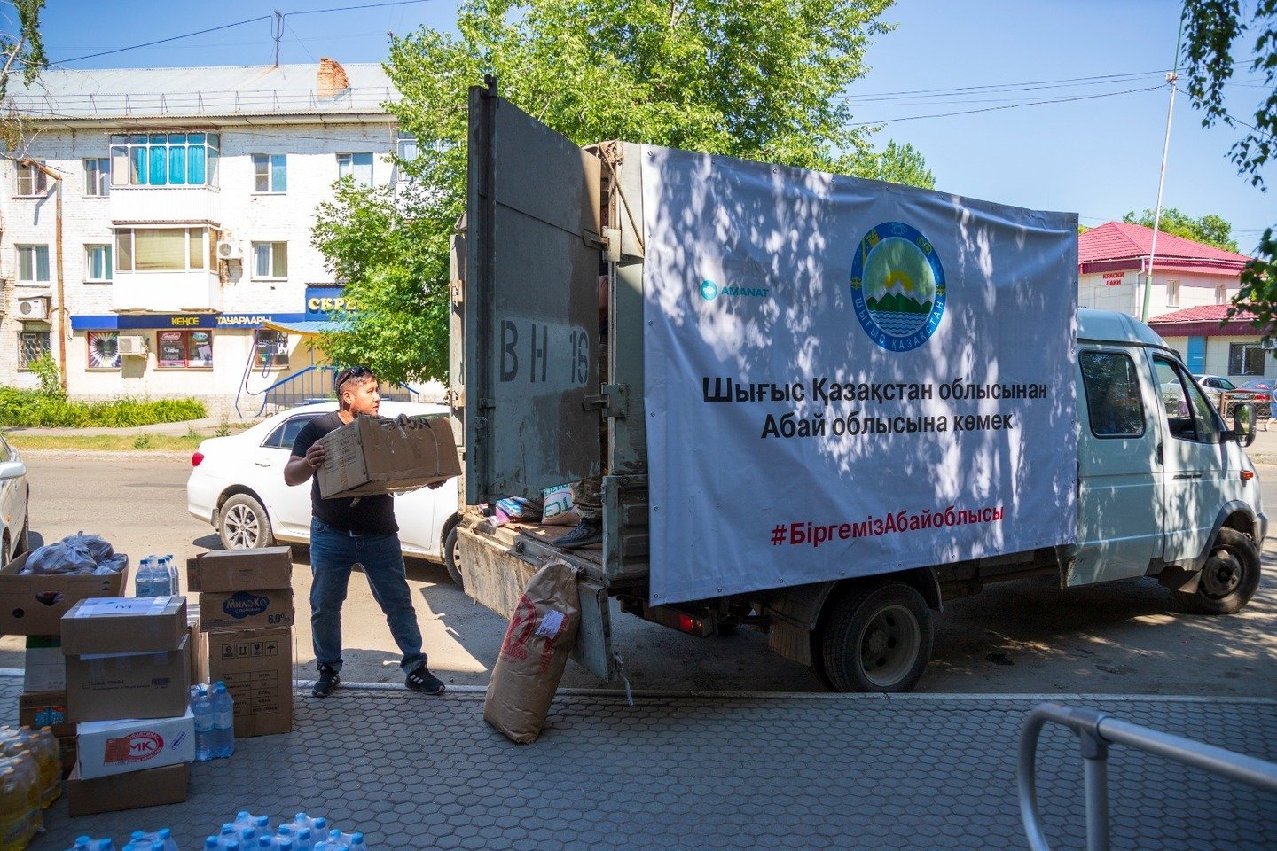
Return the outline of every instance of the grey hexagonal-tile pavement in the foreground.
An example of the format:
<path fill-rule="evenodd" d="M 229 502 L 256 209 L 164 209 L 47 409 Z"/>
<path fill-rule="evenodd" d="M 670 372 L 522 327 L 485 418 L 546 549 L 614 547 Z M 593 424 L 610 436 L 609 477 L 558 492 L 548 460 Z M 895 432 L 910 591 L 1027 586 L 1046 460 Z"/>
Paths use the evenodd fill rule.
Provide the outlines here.
<path fill-rule="evenodd" d="M 0 676 L 15 717 L 22 681 Z M 483 694 L 299 692 L 290 735 L 192 768 L 185 804 L 70 819 L 34 851 L 167 825 L 183 851 L 238 810 L 305 810 L 411 848 L 1024 848 L 1020 725 L 1039 700 L 951 695 L 559 694 L 534 745 L 483 721 Z M 1277 702 L 1068 700 L 1277 762 Z M 1039 800 L 1056 848 L 1085 846 L 1071 734 L 1048 726 Z M 1115 848 L 1277 848 L 1277 797 L 1115 746 Z"/>

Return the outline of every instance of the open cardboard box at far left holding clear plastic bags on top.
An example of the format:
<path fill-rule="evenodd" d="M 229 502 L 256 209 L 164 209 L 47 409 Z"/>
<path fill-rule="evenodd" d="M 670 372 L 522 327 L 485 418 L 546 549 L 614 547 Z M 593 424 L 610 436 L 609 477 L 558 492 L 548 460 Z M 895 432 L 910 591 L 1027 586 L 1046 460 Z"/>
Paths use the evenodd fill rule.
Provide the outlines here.
<path fill-rule="evenodd" d="M 119 597 L 129 566 L 119 573 L 19 574 L 29 552 L 0 568 L 0 635 L 57 635 L 63 615 L 86 597 Z"/>

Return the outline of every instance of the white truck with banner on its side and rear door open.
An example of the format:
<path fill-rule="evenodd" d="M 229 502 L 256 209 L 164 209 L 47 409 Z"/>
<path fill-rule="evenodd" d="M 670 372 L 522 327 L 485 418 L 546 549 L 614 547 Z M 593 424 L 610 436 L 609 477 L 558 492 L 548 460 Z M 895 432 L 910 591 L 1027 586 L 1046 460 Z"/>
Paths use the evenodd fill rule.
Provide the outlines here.
<path fill-rule="evenodd" d="M 944 603 L 991 582 L 1156 575 L 1207 614 L 1258 586 L 1250 412 L 1227 427 L 1149 328 L 1077 309 L 1075 216 L 581 149 L 489 80 L 452 293 L 446 560 L 507 616 L 538 565 L 577 565 L 600 677 L 617 610 L 904 692 Z M 593 476 L 599 547 L 481 509 Z"/>

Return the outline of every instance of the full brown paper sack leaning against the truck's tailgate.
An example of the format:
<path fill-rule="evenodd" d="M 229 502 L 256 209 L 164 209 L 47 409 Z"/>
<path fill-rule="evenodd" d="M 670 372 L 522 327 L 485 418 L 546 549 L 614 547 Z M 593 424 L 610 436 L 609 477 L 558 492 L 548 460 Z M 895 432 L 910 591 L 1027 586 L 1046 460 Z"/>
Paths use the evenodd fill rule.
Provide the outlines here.
<path fill-rule="evenodd" d="M 511 741 L 536 741 L 581 623 L 576 570 L 554 560 L 538 570 L 518 600 L 492 670 L 484 721 Z"/>

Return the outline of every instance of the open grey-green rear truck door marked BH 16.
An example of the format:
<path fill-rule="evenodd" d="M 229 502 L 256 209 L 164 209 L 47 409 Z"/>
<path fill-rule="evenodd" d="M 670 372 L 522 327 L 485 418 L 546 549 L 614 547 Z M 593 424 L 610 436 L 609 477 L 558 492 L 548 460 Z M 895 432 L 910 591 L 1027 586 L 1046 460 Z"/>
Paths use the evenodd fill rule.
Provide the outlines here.
<path fill-rule="evenodd" d="M 598 476 L 598 158 L 475 87 L 466 216 L 466 501 Z"/>

